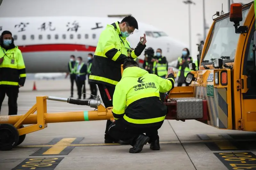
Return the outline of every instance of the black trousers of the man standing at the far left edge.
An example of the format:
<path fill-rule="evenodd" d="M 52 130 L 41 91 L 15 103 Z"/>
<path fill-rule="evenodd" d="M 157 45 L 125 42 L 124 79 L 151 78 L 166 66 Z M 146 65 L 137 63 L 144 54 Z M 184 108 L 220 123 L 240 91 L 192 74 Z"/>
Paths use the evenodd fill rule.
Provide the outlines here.
<path fill-rule="evenodd" d="M 2 103 L 4 101 L 5 94 L 8 96 L 8 107 L 9 113 L 8 115 L 17 115 L 18 112 L 18 99 L 19 87 L 11 87 L 11 86 L 2 86 L 0 85 L 0 113 Z"/>

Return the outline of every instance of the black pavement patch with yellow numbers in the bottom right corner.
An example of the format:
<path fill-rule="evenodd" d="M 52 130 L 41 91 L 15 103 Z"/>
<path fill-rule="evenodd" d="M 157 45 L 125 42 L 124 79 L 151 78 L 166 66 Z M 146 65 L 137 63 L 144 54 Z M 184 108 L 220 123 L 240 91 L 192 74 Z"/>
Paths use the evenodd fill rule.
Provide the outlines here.
<path fill-rule="evenodd" d="M 256 169 L 256 155 L 252 152 L 213 153 L 229 170 Z"/>

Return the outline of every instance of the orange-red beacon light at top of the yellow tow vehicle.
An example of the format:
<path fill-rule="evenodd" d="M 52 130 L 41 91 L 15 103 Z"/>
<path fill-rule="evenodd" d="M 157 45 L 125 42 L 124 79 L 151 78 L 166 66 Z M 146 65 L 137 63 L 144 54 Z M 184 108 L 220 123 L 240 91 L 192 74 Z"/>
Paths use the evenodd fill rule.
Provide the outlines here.
<path fill-rule="evenodd" d="M 239 22 L 243 20 L 242 4 L 233 3 L 230 5 L 229 20 L 239 26 Z"/>

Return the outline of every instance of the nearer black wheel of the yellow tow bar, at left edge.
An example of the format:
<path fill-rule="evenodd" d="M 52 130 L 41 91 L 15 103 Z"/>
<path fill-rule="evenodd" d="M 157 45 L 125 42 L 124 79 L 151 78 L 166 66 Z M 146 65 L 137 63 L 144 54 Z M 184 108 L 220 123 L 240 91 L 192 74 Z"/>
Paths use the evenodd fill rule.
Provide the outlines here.
<path fill-rule="evenodd" d="M 19 142 L 19 132 L 12 124 L 0 124 L 0 150 L 9 151 Z"/>

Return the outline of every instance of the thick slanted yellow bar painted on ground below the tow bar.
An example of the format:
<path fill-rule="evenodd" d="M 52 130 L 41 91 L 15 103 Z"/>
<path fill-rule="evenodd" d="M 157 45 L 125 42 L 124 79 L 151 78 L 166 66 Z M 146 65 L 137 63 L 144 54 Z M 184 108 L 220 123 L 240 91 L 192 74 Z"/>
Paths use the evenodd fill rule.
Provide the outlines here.
<path fill-rule="evenodd" d="M 76 138 L 63 138 L 57 144 L 54 144 L 50 149 L 45 151 L 43 155 L 53 155 L 60 154 L 67 146 L 70 146 L 72 142 L 74 142 Z"/>

